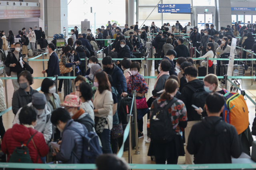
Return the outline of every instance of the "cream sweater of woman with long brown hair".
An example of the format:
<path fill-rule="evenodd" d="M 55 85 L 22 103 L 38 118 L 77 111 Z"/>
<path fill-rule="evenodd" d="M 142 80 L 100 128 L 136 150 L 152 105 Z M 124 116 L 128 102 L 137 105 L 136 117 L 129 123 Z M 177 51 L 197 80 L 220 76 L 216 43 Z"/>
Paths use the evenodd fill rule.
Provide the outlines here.
<path fill-rule="evenodd" d="M 100 94 L 99 90 L 96 90 L 94 94 L 93 106 L 95 109 L 98 109 L 98 113 L 95 113 L 94 115 L 96 117 L 104 117 L 107 119 L 108 124 L 105 124 L 104 129 L 112 129 L 113 105 L 114 101 L 112 98 L 112 92 L 110 92 L 109 90 L 104 90 L 102 94 Z"/>

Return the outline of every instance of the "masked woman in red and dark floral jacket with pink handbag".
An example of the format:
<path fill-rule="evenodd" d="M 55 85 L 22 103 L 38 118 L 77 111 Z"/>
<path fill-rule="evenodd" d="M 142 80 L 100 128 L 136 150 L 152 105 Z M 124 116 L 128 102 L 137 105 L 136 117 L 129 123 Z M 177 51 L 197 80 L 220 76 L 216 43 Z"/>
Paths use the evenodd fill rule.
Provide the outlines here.
<path fill-rule="evenodd" d="M 132 75 L 129 78 L 129 81 L 127 83 L 127 93 L 129 95 L 132 95 L 132 90 L 136 90 L 136 100 L 144 98 L 144 95 L 148 93 L 148 85 L 146 84 L 146 81 L 140 75 L 140 63 L 133 62 L 130 65 L 130 71 L 132 72 Z M 138 138 L 144 138 L 143 135 L 143 117 L 148 113 L 149 109 L 137 109 L 137 120 L 138 120 Z"/>

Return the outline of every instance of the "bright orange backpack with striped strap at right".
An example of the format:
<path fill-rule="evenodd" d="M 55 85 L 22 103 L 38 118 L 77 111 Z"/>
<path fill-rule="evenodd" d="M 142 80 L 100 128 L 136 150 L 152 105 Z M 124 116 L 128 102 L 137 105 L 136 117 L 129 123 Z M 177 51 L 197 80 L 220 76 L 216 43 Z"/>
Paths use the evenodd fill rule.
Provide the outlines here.
<path fill-rule="evenodd" d="M 224 97 L 226 98 L 223 110 L 223 120 L 236 128 L 236 131 L 241 134 L 248 128 L 249 116 L 248 107 L 244 100 L 244 96 L 236 93 L 232 94 L 226 92 Z"/>

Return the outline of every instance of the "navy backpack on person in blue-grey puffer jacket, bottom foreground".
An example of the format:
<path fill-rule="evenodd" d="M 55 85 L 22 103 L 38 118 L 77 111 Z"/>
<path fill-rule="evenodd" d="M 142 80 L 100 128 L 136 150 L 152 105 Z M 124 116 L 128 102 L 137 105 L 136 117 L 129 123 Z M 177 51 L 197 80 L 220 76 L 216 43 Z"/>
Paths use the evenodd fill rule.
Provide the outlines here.
<path fill-rule="evenodd" d="M 86 127 L 83 124 L 82 126 L 84 128 L 84 131 L 86 132 L 84 135 L 74 127 L 67 128 L 77 132 L 83 139 L 83 151 L 81 158 L 79 159 L 77 154 L 74 151 L 72 152 L 80 160 L 81 164 L 94 164 L 96 157 L 102 154 L 102 147 L 100 147 L 99 145 L 98 135 L 93 131 L 88 133 Z"/>

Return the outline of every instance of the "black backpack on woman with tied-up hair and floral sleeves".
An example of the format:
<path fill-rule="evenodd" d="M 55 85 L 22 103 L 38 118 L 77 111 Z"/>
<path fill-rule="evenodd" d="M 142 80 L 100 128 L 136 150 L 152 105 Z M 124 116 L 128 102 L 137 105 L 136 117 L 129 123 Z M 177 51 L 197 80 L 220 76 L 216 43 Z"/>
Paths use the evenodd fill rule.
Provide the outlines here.
<path fill-rule="evenodd" d="M 168 143 L 174 139 L 176 131 L 172 127 L 172 118 L 168 109 L 177 102 L 177 98 L 160 107 L 154 100 L 154 112 L 150 115 L 150 138 L 156 143 Z"/>

